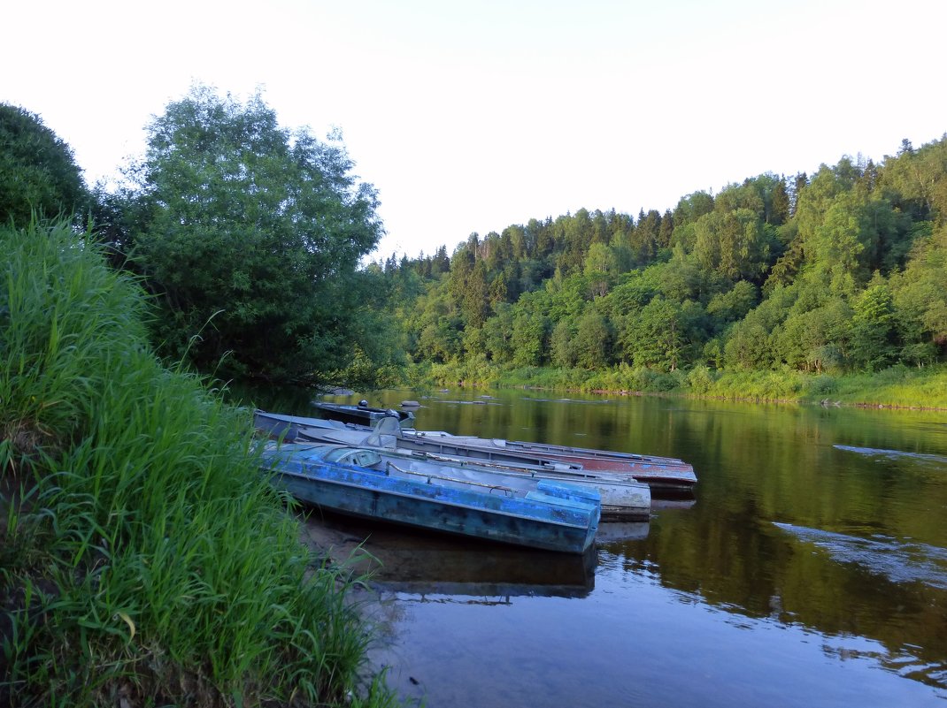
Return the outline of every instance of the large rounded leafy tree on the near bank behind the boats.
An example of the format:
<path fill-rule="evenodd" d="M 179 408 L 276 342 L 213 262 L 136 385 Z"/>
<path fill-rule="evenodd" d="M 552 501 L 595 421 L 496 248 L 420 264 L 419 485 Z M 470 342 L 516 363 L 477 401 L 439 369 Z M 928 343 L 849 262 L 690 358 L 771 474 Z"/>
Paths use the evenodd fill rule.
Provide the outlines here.
<path fill-rule="evenodd" d="M 382 224 L 352 166 L 339 136 L 280 128 L 259 94 L 241 103 L 195 87 L 153 119 L 128 172 L 128 248 L 159 296 L 169 354 L 202 371 L 313 383 L 372 349 L 356 268 Z"/>

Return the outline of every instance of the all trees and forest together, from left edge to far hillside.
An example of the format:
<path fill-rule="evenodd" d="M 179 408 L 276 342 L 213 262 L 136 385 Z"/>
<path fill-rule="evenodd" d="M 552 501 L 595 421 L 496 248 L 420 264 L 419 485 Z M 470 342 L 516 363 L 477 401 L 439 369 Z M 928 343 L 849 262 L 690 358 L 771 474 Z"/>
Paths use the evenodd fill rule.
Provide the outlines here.
<path fill-rule="evenodd" d="M 157 350 L 223 379 L 831 399 L 851 377 L 944 378 L 947 135 L 366 263 L 377 191 L 340 135 L 281 128 L 259 95 L 192 88 L 111 190 L 39 116 L 0 109 L 5 217 L 91 223 L 152 294 Z"/>

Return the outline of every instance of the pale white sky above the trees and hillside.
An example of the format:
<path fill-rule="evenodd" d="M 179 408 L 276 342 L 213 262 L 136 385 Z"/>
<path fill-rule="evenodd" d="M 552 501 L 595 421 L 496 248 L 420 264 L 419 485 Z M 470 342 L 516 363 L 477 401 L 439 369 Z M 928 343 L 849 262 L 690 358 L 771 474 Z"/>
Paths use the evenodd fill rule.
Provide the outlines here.
<path fill-rule="evenodd" d="M 375 258 L 947 131 L 944 0 L 6 0 L 0 26 L 0 102 L 90 185 L 195 82 L 340 128 L 382 200 Z"/>

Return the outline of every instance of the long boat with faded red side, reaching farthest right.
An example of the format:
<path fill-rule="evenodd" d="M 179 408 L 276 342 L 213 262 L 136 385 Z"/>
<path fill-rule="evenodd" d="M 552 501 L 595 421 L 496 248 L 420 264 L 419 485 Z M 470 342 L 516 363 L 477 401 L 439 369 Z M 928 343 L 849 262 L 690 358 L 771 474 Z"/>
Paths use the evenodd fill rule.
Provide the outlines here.
<path fill-rule="evenodd" d="M 619 479 L 648 484 L 652 494 L 690 494 L 697 482 L 694 468 L 678 458 L 401 429 L 393 421 L 384 418 L 369 430 L 365 426 L 257 411 L 257 425 L 271 431 L 288 430 L 293 433 L 293 438 L 301 437 L 306 440 L 399 448 L 453 458 L 532 465 L 563 474 L 617 476 Z"/>

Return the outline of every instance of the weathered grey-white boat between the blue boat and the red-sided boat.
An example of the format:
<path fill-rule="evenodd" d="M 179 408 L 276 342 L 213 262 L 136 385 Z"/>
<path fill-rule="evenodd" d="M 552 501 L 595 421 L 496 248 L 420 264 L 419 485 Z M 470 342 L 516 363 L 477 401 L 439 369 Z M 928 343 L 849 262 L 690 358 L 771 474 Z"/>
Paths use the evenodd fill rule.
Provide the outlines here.
<path fill-rule="evenodd" d="M 345 426 L 333 425 L 323 430 L 338 431 L 343 440 L 332 440 L 328 435 L 307 435 L 313 432 L 307 419 L 280 416 L 274 413 L 257 412 L 257 426 L 276 436 L 283 433 L 287 441 L 309 440 L 328 444 L 350 446 L 369 445 L 377 450 L 384 463 L 399 465 L 417 473 L 456 476 L 473 482 L 499 484 L 517 490 L 530 491 L 542 479 L 564 482 L 583 489 L 594 490 L 601 497 L 601 517 L 609 521 L 647 521 L 651 517 L 651 488 L 631 477 L 617 478 L 615 475 L 597 475 L 581 470 L 558 470 L 550 465 L 530 465 L 516 461 L 491 461 L 469 457 L 440 455 L 426 450 L 408 450 L 397 445 L 371 445 L 370 434 L 354 431 Z M 295 421 L 295 423 L 293 423 Z M 288 427 L 280 428 L 280 423 Z M 287 432 L 288 431 L 288 434 Z M 351 435 L 350 433 L 354 433 Z M 313 440 L 318 438 L 319 440 Z M 351 439 L 351 440 L 346 440 Z"/>

